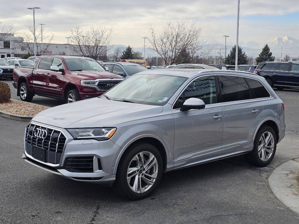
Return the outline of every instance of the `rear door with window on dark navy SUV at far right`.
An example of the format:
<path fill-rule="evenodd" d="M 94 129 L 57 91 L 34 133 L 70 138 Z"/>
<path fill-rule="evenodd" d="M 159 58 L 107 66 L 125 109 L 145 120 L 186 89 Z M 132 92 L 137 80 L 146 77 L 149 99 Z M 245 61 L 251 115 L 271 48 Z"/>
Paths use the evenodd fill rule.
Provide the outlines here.
<path fill-rule="evenodd" d="M 291 64 L 279 63 L 273 72 L 273 85 L 284 86 L 289 85 L 289 74 Z"/>

